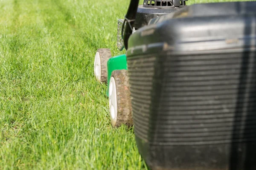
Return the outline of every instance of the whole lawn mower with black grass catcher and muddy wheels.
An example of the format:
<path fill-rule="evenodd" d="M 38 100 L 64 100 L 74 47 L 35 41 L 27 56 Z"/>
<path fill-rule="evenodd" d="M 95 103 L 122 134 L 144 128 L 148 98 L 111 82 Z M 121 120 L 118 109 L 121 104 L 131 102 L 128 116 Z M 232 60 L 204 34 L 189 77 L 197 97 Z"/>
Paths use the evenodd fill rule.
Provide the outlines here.
<path fill-rule="evenodd" d="M 95 57 L 112 125 L 134 124 L 153 170 L 256 170 L 256 2 L 138 4 L 118 21 L 126 53 Z"/>

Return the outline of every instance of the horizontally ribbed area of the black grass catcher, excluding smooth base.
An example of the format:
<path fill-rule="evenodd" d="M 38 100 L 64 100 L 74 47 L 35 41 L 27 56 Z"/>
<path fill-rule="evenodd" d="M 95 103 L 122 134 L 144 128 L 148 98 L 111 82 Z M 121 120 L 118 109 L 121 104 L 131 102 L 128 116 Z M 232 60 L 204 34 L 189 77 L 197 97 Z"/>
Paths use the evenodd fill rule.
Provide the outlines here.
<path fill-rule="evenodd" d="M 128 60 L 137 136 L 163 145 L 256 140 L 244 134 L 256 127 L 255 58 L 247 59 L 246 68 L 241 54 Z"/>

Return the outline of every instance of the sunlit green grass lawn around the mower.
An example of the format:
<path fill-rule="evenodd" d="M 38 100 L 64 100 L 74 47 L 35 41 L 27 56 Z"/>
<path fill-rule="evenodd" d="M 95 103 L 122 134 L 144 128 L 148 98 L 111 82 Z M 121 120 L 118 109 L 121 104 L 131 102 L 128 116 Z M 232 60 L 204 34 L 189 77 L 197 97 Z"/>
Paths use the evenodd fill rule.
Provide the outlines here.
<path fill-rule="evenodd" d="M 93 76 L 97 48 L 122 54 L 128 3 L 0 0 L 0 170 L 147 169 L 133 130 L 111 127 Z"/>

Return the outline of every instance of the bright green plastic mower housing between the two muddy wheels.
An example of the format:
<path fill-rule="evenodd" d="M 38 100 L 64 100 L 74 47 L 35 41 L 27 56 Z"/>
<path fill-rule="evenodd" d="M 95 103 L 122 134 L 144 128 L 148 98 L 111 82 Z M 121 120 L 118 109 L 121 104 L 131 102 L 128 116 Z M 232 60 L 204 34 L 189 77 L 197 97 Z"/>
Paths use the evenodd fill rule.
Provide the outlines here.
<path fill-rule="evenodd" d="M 115 70 L 127 70 L 127 61 L 126 61 L 126 55 L 122 54 L 116 57 L 111 57 L 108 59 L 108 86 L 109 86 L 109 80 L 111 78 L 112 71 Z M 107 90 L 107 96 L 108 96 L 108 90 Z"/>

